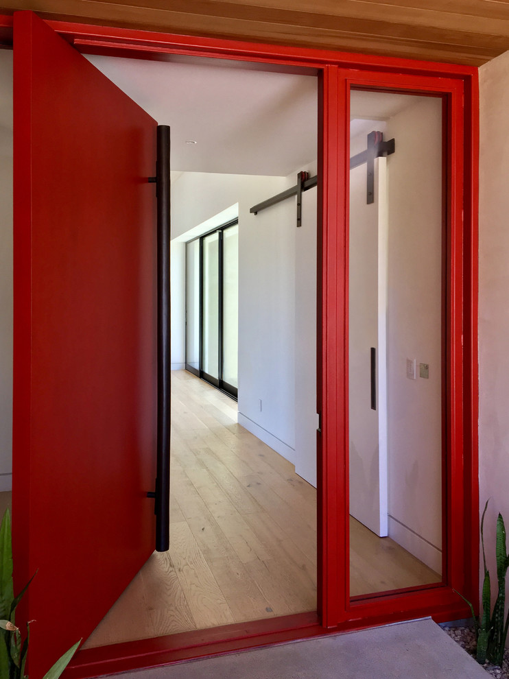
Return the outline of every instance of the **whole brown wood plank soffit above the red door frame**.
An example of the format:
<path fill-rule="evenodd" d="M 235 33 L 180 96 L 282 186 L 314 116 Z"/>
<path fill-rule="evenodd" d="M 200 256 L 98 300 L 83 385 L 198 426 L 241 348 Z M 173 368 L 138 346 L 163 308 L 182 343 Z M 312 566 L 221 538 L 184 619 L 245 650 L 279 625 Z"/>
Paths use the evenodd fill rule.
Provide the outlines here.
<path fill-rule="evenodd" d="M 32 9 L 45 19 L 473 66 L 509 49 L 509 3 L 492 0 L 122 0 L 121 3 L 0 0 L 0 3 L 6 12 Z"/>

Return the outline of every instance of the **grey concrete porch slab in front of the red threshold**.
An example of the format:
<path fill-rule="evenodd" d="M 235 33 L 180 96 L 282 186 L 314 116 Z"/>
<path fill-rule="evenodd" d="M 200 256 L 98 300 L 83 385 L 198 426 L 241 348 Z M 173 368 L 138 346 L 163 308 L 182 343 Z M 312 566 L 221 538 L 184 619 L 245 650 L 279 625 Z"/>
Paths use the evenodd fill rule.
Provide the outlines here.
<path fill-rule="evenodd" d="M 486 679 L 488 676 L 427 618 L 134 671 L 129 679 Z"/>

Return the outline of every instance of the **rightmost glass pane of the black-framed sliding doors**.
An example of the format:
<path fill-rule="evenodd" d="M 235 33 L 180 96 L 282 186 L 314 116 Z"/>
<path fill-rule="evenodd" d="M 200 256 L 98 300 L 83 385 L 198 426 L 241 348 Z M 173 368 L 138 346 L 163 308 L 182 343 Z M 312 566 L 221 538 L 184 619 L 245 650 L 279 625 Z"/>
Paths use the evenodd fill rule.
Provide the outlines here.
<path fill-rule="evenodd" d="M 223 232 L 223 376 L 237 387 L 239 337 L 239 226 Z"/>

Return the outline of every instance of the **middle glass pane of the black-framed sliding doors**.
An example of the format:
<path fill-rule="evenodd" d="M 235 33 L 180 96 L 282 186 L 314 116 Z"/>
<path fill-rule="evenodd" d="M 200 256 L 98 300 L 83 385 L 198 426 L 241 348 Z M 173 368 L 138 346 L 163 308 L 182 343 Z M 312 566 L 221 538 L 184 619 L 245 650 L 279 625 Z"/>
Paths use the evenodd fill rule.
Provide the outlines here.
<path fill-rule="evenodd" d="M 219 378 L 219 233 L 203 239 L 202 370 Z"/>

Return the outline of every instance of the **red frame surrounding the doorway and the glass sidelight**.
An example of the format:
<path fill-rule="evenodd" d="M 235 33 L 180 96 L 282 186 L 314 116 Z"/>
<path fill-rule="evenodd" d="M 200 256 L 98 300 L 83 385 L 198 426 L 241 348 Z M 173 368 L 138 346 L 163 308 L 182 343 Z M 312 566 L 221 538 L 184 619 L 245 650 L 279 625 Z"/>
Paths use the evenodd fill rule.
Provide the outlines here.
<path fill-rule="evenodd" d="M 436 621 L 469 615 L 453 589 L 477 601 L 477 69 L 399 58 L 241 43 L 162 33 L 49 21 L 86 53 L 152 60 L 221 58 L 245 67 L 317 73 L 320 83 L 318 281 L 318 615 L 214 628 L 79 652 L 67 676 L 82 679 L 151 667 L 242 648 L 303 639 L 341 630 L 431 615 Z M 0 16 L 0 41 L 12 41 L 12 17 Z M 261 64 L 261 65 L 260 65 Z M 310 70 L 311 69 L 311 70 Z M 414 93 L 442 93 L 447 100 L 449 196 L 449 326 L 447 356 L 446 474 L 448 560 L 438 586 L 383 593 L 351 601 L 348 596 L 347 442 L 347 149 L 348 88 L 362 86 Z"/>

